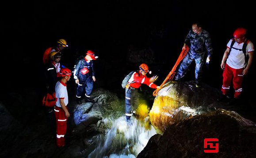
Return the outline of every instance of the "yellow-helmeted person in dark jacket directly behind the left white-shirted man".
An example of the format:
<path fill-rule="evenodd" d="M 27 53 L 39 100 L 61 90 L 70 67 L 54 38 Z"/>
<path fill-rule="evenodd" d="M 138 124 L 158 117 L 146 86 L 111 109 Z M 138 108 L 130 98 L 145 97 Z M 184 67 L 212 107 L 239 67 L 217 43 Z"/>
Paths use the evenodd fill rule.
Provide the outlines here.
<path fill-rule="evenodd" d="M 46 88 L 47 92 L 53 94 L 55 92 L 55 85 L 60 78 L 61 70 L 61 53 L 58 51 L 53 51 L 50 54 L 51 62 L 46 66 Z M 53 107 L 48 107 L 48 113 L 53 111 Z"/>

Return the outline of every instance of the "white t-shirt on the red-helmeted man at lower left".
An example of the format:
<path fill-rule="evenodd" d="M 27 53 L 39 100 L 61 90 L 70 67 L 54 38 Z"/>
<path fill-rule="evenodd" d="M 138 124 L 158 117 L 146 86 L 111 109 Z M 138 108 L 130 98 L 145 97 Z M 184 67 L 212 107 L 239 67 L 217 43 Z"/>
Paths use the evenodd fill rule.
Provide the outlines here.
<path fill-rule="evenodd" d="M 65 106 L 67 106 L 69 103 L 67 85 L 61 81 L 57 81 L 55 85 L 55 92 L 56 92 L 56 98 L 57 98 L 56 106 L 61 107 L 60 98 L 64 99 Z"/>

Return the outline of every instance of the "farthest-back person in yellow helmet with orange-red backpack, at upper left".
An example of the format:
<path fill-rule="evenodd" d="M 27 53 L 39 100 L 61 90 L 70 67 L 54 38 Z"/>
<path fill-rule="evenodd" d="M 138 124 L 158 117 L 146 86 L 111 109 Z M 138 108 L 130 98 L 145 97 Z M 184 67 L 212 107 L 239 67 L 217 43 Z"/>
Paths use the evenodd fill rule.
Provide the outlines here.
<path fill-rule="evenodd" d="M 53 51 L 58 51 L 61 53 L 61 51 L 64 50 L 64 48 L 69 47 L 67 45 L 67 41 L 64 39 L 59 39 L 57 40 L 57 45 L 55 47 L 50 47 L 47 48 L 43 54 L 43 63 L 47 64 L 48 62 L 50 62 L 50 53 Z"/>

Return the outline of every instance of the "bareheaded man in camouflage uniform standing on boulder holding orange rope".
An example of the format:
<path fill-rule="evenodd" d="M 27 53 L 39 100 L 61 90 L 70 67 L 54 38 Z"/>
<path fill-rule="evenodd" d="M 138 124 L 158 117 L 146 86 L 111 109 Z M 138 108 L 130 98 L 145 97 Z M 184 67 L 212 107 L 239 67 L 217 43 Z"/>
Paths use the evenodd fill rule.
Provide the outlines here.
<path fill-rule="evenodd" d="M 180 79 L 185 76 L 191 62 L 195 60 L 196 87 L 200 87 L 202 82 L 204 55 L 207 51 L 208 55 L 206 62 L 209 63 L 210 56 L 213 53 L 210 34 L 206 30 L 202 29 L 199 23 L 193 23 L 192 29 L 188 32 L 182 49 L 186 49 L 186 45 L 190 45 L 189 51 L 180 64 L 175 81 L 180 81 Z"/>

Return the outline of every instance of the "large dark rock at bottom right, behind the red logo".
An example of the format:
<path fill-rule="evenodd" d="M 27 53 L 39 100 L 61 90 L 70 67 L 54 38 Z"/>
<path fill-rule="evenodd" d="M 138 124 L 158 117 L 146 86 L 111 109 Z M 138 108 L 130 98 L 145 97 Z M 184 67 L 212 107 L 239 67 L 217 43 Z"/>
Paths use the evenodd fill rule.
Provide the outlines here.
<path fill-rule="evenodd" d="M 204 152 L 205 138 L 218 139 L 218 153 Z M 256 155 L 255 145 L 253 121 L 236 112 L 218 109 L 173 123 L 162 136 L 151 137 L 137 158 L 252 158 Z"/>

